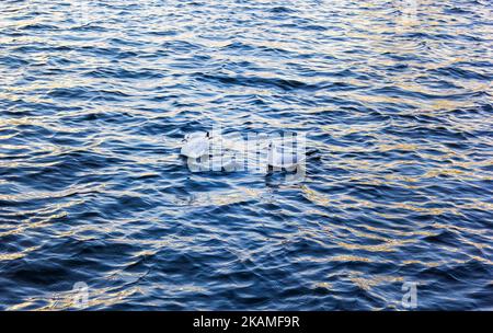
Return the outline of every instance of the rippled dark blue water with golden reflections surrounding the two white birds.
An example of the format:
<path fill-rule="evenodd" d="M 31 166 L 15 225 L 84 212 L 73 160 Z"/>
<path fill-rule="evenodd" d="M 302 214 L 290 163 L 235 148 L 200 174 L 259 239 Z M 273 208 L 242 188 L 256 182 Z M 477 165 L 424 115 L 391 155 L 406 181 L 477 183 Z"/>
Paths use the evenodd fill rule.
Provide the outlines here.
<path fill-rule="evenodd" d="M 492 309 L 491 1 L 0 7 L 0 309 Z M 192 173 L 215 124 L 318 153 Z"/>

